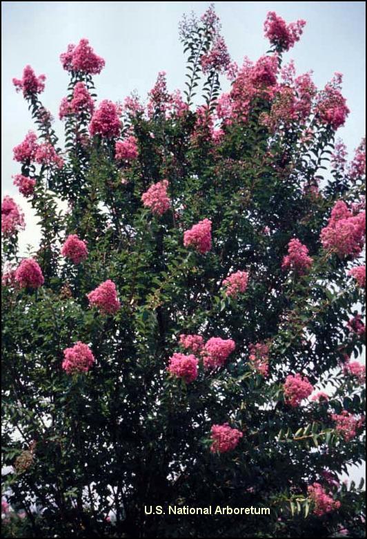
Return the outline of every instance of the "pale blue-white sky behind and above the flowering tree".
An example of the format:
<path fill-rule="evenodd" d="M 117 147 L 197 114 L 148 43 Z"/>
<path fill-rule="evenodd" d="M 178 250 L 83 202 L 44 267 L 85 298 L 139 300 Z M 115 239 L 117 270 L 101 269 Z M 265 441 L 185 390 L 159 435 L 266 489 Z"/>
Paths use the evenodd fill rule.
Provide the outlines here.
<path fill-rule="evenodd" d="M 10 194 L 26 214 L 26 231 L 20 234 L 21 249 L 37 247 L 36 220 L 25 199 L 12 185 L 19 173 L 12 160 L 12 148 L 29 129 L 34 129 L 26 102 L 12 86 L 30 64 L 37 75 L 47 77 L 41 101 L 58 120 L 61 98 L 66 95 L 68 73 L 59 55 L 68 44 L 86 37 L 106 68 L 95 76 L 99 99 L 123 101 L 137 90 L 141 97 L 152 88 L 161 70 L 167 72 L 168 88 L 184 88 L 185 59 L 178 37 L 178 23 L 184 13 L 201 15 L 208 2 L 14 2 L 2 9 L 2 178 L 3 194 Z M 268 49 L 263 23 L 269 10 L 286 21 L 307 21 L 301 41 L 285 55 L 295 60 L 297 73 L 313 70 L 318 87 L 335 71 L 344 74 L 343 93 L 350 108 L 346 125 L 338 134 L 350 154 L 365 133 L 365 3 L 364 2 L 216 2 L 222 33 L 232 59 L 241 64 L 245 55 L 256 60 Z M 226 88 L 226 82 L 224 84 Z M 353 477 L 361 471 L 353 470 Z"/>

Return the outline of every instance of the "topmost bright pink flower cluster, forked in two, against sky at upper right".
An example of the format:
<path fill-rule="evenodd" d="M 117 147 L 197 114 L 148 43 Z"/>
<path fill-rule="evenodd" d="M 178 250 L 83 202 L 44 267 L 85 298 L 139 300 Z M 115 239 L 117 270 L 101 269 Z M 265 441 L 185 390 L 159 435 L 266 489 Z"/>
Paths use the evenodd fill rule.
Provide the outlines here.
<path fill-rule="evenodd" d="M 306 21 L 299 19 L 295 23 L 287 24 L 274 11 L 269 11 L 264 22 L 265 37 L 277 48 L 284 52 L 292 48 L 301 37 Z"/>

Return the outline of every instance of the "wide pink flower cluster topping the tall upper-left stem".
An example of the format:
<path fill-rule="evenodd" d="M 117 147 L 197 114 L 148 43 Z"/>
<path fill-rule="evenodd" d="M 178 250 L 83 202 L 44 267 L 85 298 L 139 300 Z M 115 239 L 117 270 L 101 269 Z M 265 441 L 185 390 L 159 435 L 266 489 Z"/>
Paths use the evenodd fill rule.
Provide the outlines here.
<path fill-rule="evenodd" d="M 67 71 L 81 71 L 97 75 L 105 66 L 105 61 L 96 55 L 88 39 L 81 39 L 77 46 L 68 45 L 66 53 L 60 55 L 63 68 Z"/>

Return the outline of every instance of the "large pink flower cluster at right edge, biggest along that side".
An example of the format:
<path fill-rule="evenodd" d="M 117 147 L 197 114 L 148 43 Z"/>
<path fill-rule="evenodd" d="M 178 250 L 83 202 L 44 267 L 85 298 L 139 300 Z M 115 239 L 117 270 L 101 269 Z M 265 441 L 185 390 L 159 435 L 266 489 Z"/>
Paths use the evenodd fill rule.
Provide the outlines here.
<path fill-rule="evenodd" d="M 366 238 L 366 211 L 353 215 L 343 200 L 338 200 L 331 212 L 328 225 L 321 230 L 321 243 L 339 257 L 358 256 Z"/>

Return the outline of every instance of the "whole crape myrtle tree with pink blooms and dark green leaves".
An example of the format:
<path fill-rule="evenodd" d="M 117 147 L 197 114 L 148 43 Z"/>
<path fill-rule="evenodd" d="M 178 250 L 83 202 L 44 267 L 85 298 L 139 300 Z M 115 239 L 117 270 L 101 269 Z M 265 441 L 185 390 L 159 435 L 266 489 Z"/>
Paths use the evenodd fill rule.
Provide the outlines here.
<path fill-rule="evenodd" d="M 304 25 L 268 13 L 270 49 L 237 66 L 212 6 L 184 17 L 185 90 L 161 72 L 145 103 L 97 102 L 81 39 L 63 150 L 45 77 L 14 79 L 41 242 L 19 254 L 3 198 L 6 536 L 364 535 L 339 474 L 364 455 L 365 146 L 335 140 L 341 75 L 284 62 Z"/>

